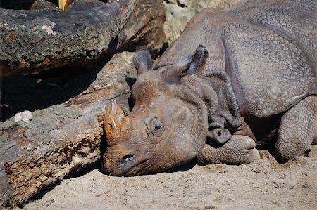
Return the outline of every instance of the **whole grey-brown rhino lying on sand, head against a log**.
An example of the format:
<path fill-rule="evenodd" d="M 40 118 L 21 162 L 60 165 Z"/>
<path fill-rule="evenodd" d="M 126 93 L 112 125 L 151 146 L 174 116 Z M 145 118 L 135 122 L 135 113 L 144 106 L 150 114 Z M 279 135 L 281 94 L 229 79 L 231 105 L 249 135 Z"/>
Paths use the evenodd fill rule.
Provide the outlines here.
<path fill-rule="evenodd" d="M 106 107 L 103 170 L 113 176 L 248 164 L 274 144 L 281 163 L 317 139 L 316 1 L 206 8 L 152 64 L 135 53 L 134 107 Z"/>

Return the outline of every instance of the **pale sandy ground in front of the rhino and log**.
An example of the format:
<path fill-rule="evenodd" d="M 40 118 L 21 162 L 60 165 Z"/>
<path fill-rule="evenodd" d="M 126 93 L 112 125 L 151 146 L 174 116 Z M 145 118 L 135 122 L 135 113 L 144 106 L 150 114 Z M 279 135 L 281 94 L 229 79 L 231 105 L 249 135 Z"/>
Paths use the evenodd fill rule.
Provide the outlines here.
<path fill-rule="evenodd" d="M 261 160 L 241 166 L 195 165 L 135 177 L 92 169 L 22 209 L 317 209 L 316 160 L 314 145 L 309 157 L 283 165 L 261 151 Z"/>

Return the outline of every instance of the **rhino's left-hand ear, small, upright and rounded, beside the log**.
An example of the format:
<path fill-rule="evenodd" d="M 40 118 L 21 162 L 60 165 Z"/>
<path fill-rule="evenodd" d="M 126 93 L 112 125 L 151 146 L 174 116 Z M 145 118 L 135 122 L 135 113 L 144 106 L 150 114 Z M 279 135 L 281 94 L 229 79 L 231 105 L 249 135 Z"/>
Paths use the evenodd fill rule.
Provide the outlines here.
<path fill-rule="evenodd" d="M 135 53 L 133 63 L 137 70 L 137 75 L 140 75 L 152 68 L 151 54 L 147 49 L 141 49 Z"/>

